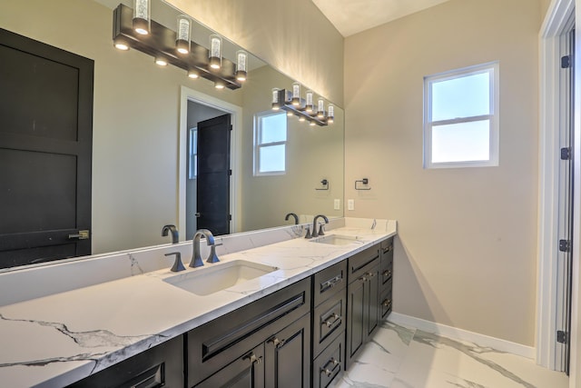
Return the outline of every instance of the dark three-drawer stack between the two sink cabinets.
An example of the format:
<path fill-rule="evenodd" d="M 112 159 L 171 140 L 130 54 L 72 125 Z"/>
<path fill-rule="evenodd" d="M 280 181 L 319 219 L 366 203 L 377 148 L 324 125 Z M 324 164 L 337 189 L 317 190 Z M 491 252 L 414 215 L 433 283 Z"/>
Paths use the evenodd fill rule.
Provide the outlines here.
<path fill-rule="evenodd" d="M 347 260 L 313 275 L 312 387 L 340 376 L 345 358 Z"/>

